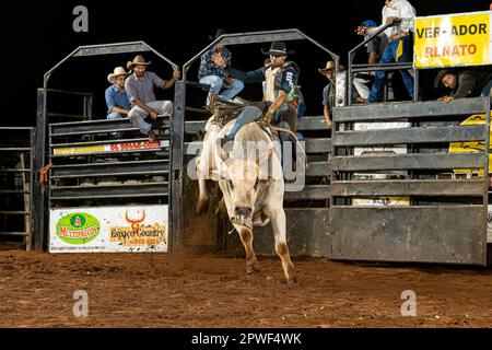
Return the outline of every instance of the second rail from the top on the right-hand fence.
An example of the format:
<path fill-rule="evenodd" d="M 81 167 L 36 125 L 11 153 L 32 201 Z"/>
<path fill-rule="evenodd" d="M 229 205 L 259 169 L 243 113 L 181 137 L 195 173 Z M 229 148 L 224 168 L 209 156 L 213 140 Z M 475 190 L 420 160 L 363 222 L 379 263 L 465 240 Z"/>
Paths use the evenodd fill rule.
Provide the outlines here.
<path fill-rule="evenodd" d="M 485 140 L 487 126 L 401 128 L 367 131 L 340 131 L 333 135 L 335 147 L 412 144 Z"/>

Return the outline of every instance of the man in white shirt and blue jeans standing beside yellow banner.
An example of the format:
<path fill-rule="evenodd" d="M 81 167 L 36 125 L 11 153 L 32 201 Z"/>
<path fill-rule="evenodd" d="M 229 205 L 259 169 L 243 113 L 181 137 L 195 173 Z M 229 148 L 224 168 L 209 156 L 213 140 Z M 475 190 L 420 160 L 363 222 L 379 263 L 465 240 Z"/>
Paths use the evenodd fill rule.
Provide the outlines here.
<path fill-rule="evenodd" d="M 359 26 L 356 32 L 359 35 L 374 34 L 386 24 L 394 24 L 387 27 L 382 35 L 386 35 L 388 38 L 388 45 L 383 52 L 383 57 L 379 59 L 379 63 L 386 65 L 391 62 L 411 62 L 411 32 L 414 31 L 413 19 L 415 18 L 415 9 L 407 0 L 385 0 L 385 7 L 383 8 L 383 23 L 378 27 L 370 28 L 365 26 Z M 399 22 L 401 21 L 401 22 Z M 405 86 L 410 98 L 413 100 L 413 78 L 409 70 L 400 70 L 401 78 L 403 79 Z M 371 93 L 367 101 L 378 102 L 380 92 L 386 78 L 386 71 L 378 70 L 375 73 L 375 80 L 371 89 Z"/>

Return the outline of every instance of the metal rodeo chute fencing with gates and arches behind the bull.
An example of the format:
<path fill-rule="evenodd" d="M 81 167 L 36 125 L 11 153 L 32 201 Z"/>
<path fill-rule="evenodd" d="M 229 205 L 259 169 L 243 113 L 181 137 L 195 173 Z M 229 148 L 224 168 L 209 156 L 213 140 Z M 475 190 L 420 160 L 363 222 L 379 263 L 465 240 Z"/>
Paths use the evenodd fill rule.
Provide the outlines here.
<path fill-rule="evenodd" d="M 484 13 L 490 14 L 418 18 L 415 28 L 430 21 L 436 26 L 445 20 L 459 24 Z M 347 104 L 333 108 L 332 128 L 324 116 L 298 119 L 307 162 L 302 189 L 289 190 L 286 184 L 284 195 L 291 255 L 487 265 L 492 242 L 485 174 L 490 96 L 449 103 L 418 96 L 419 70 L 488 68 L 492 58 L 425 60 L 425 46 L 434 44 L 415 35 L 413 62 L 354 65 L 355 51 L 374 36 L 349 52 Z M 25 237 L 27 249 L 70 253 L 179 252 L 200 234 L 204 246 L 236 255 L 237 235 L 227 234 L 231 222 L 215 211 L 220 197 L 213 198 L 204 219 L 195 213 L 198 185 L 190 179 L 195 171 L 190 164 L 200 152 L 211 114 L 203 107 L 209 85 L 188 80 L 188 70 L 216 44 L 289 40 L 314 45 L 339 71 L 340 57 L 298 30 L 224 34 L 183 66 L 183 77 L 175 83 L 174 115 L 159 117 L 155 142 L 142 138 L 128 119 L 96 117 L 92 93 L 48 89 L 48 80 L 61 65 L 79 57 L 150 51 L 173 69 L 177 65 L 143 42 L 77 48 L 45 74 L 35 130 L 0 128 L 12 137 L 3 138 L 0 147 L 4 152 L 0 172 L 8 174 L 1 191 L 9 195 L 3 200 L 8 210 L 0 209 L 0 235 Z M 449 40 L 453 45 L 452 36 Z M 489 50 L 490 34 L 477 45 Z M 413 77 L 413 101 L 351 103 L 355 73 L 401 69 Z M 56 98 L 71 98 L 79 109 L 58 110 Z M 201 105 L 192 105 L 198 100 Z M 21 131 L 28 136 L 17 139 Z M 17 226 L 9 223 L 12 215 L 23 218 L 16 220 Z M 274 255 L 271 225 L 255 230 L 257 255 Z"/>

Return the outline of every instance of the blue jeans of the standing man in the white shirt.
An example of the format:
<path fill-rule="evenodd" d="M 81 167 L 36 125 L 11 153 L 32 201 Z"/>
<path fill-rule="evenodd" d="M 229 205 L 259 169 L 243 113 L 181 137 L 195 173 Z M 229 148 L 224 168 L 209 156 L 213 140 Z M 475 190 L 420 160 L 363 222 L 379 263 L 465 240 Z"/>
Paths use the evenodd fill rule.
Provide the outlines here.
<path fill-rule="evenodd" d="M 398 49 L 399 43 L 402 42 L 403 52 L 400 56 L 399 60 L 396 59 L 396 54 Z M 410 36 L 403 36 L 399 39 L 396 39 L 391 43 L 388 43 L 386 46 L 386 50 L 383 52 L 383 57 L 379 60 L 379 63 L 391 63 L 391 62 L 411 62 L 411 39 Z M 401 78 L 403 78 L 405 86 L 407 88 L 407 92 L 410 95 L 410 98 L 413 100 L 413 78 L 407 69 L 400 70 Z M 373 88 L 371 89 L 371 93 L 368 95 L 368 102 L 377 102 L 379 101 L 380 93 L 383 91 L 383 85 L 386 79 L 386 71 L 378 70 L 376 71 Z"/>

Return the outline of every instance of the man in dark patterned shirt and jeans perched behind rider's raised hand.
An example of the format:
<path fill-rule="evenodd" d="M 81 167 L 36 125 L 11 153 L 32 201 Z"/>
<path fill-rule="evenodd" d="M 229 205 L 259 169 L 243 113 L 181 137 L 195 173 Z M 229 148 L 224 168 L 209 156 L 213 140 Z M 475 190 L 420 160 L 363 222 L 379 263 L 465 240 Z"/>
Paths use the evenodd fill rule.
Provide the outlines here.
<path fill-rule="evenodd" d="M 210 36 L 211 40 L 219 38 L 224 34 L 224 30 L 218 30 L 215 37 Z M 225 67 L 220 67 L 212 60 L 212 56 L 218 55 L 224 59 Z M 244 83 L 241 80 L 227 75 L 226 68 L 231 66 L 231 51 L 224 44 L 218 44 L 210 50 L 201 55 L 198 79 L 202 84 L 210 85 L 210 93 L 219 95 L 224 100 L 233 100 L 243 89 Z M 207 97 L 207 105 L 210 103 L 210 95 Z"/>

